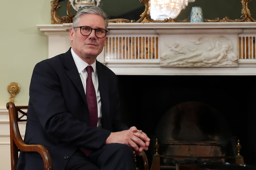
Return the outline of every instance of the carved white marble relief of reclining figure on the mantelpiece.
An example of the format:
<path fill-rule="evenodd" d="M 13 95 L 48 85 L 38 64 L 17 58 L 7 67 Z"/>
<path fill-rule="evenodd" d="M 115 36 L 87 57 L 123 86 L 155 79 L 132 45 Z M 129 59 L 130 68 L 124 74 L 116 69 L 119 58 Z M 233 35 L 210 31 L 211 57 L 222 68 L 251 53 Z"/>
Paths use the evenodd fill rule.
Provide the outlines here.
<path fill-rule="evenodd" d="M 238 66 L 237 50 L 234 50 L 233 41 L 226 36 L 188 36 L 183 42 L 171 38 L 164 45 L 165 49 L 160 55 L 162 67 Z"/>

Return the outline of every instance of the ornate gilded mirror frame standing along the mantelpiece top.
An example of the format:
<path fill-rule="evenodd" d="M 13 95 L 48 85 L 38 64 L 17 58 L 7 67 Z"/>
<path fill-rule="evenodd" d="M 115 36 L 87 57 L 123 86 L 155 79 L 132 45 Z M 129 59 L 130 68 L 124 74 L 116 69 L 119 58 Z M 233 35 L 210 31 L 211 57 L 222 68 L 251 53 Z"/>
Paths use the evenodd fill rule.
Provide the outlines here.
<path fill-rule="evenodd" d="M 215 18 L 215 19 L 204 19 L 204 22 L 256 22 L 254 18 L 252 18 L 250 10 L 248 8 L 248 3 L 252 0 L 241 0 L 242 4 L 242 11 L 241 11 L 241 17 L 239 19 L 229 19 L 228 17 L 225 17 L 223 19 Z M 188 18 L 184 20 L 177 20 L 172 18 L 166 18 L 165 20 L 153 20 L 150 17 L 149 12 L 149 0 L 140 0 L 140 3 L 143 3 L 145 5 L 144 12 L 140 15 L 140 19 L 137 21 L 135 20 L 128 20 L 124 18 L 116 18 L 116 19 L 110 19 L 110 23 L 133 23 L 133 22 L 189 22 Z M 61 6 L 59 5 L 59 0 L 53 0 L 51 1 L 52 9 L 51 9 L 51 23 L 52 24 L 63 24 L 63 23 L 72 23 L 74 14 L 70 12 L 70 6 L 71 3 L 68 1 L 67 4 L 67 16 L 59 17 L 57 14 L 57 11 Z M 71 6 L 72 7 L 72 6 Z"/>

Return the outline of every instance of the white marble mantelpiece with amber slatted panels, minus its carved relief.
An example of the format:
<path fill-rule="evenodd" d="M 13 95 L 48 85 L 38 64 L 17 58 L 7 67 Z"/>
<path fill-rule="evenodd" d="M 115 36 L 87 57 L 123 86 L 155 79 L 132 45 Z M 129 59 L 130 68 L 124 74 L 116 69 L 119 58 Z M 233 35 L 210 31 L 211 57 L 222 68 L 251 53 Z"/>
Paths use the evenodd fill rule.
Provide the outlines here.
<path fill-rule="evenodd" d="M 70 47 L 69 29 L 72 23 L 36 26 L 48 36 L 49 58 L 66 52 Z M 106 64 L 117 75 L 256 75 L 256 22 L 109 23 L 108 30 L 109 39 L 116 41 L 116 44 L 112 44 L 112 46 L 106 45 L 103 52 L 97 57 L 97 60 Z M 233 52 L 239 56 L 237 66 L 161 66 L 163 54 L 169 51 L 166 44 L 181 44 L 184 42 L 182 45 L 191 48 L 187 45 L 191 40 L 196 40 L 199 37 L 212 40 L 220 36 L 232 41 L 232 46 L 234 46 Z M 143 45 L 142 39 L 144 37 L 146 37 L 145 41 L 147 42 L 152 39 L 152 43 L 150 45 Z M 147 39 L 147 37 L 149 38 Z M 135 49 L 133 49 L 135 52 L 130 54 L 131 56 L 130 58 L 128 56 L 128 59 L 123 59 L 123 55 L 126 52 L 122 52 L 122 50 L 126 49 L 123 44 L 125 38 L 130 38 L 129 41 L 132 41 L 132 45 L 135 44 Z M 112 41 L 108 42 L 114 43 Z M 138 47 L 140 44 L 142 47 Z M 112 48 L 110 49 L 108 46 Z M 114 46 L 117 46 L 117 48 Z M 144 59 L 142 58 L 144 55 L 149 55 L 148 51 L 145 52 L 148 50 L 148 46 L 153 47 L 152 51 L 150 51 L 150 55 L 153 55 L 153 58 Z M 240 46 L 242 46 L 244 51 L 240 49 Z M 145 51 L 143 51 L 144 48 Z M 243 54 L 248 52 L 248 50 L 250 51 L 249 54 Z M 136 55 L 138 58 L 136 58 Z M 241 55 L 245 55 L 247 58 L 241 58 L 243 57 Z"/>

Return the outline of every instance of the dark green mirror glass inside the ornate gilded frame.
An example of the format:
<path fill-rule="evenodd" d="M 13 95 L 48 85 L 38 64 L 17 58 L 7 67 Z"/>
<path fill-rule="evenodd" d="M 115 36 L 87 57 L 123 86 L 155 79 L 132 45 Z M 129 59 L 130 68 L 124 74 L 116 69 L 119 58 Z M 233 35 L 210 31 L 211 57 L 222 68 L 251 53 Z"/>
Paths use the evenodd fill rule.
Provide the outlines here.
<path fill-rule="evenodd" d="M 66 16 L 68 0 L 60 0 L 61 8 L 58 15 Z M 200 6 L 203 10 L 204 19 L 215 19 L 228 17 L 229 19 L 239 19 L 241 17 L 242 4 L 241 0 L 196 0 L 189 3 L 186 9 L 180 12 L 178 20 L 188 18 L 190 10 L 193 6 Z M 138 20 L 140 14 L 145 10 L 145 5 L 139 0 L 101 0 L 100 7 L 110 16 L 110 19 L 125 18 L 129 20 Z M 248 8 L 252 17 L 256 18 L 256 0 L 248 3 Z M 76 11 L 71 7 L 71 12 Z"/>

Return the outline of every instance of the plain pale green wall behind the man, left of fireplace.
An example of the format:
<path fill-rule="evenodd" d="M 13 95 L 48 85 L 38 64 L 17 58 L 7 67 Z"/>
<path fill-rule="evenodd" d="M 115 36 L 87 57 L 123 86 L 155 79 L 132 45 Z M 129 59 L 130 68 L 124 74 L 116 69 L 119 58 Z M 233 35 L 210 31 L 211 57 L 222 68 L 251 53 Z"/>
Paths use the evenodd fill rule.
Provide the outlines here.
<path fill-rule="evenodd" d="M 48 37 L 37 24 L 51 24 L 51 0 L 1 1 L 0 107 L 5 107 L 11 82 L 20 84 L 16 105 L 28 105 L 35 64 L 48 58 Z"/>

